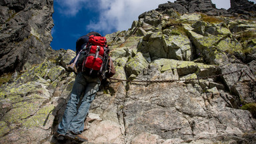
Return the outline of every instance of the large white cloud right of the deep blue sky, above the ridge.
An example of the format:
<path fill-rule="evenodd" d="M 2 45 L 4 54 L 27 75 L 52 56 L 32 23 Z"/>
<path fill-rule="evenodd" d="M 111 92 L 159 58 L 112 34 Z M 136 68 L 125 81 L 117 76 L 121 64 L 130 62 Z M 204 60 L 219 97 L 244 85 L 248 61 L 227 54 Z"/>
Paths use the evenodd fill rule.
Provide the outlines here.
<path fill-rule="evenodd" d="M 174 0 L 173 0 L 174 1 Z M 87 29 L 109 33 L 115 30 L 127 30 L 138 16 L 151 9 L 156 9 L 159 4 L 167 3 L 166 0 L 100 0 L 103 11 L 99 21 L 91 21 Z M 99 27 L 95 27 L 99 25 Z"/>

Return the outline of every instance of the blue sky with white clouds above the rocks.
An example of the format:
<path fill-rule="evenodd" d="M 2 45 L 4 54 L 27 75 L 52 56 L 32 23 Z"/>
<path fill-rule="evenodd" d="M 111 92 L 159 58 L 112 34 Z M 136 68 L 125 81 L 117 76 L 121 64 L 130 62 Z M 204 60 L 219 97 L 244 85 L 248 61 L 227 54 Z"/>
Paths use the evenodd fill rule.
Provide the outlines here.
<path fill-rule="evenodd" d="M 219 9 L 229 9 L 229 1 L 212 0 Z M 90 31 L 103 36 L 126 31 L 141 13 L 157 9 L 162 3 L 167 0 L 54 0 L 51 47 L 75 51 L 77 39 Z"/>

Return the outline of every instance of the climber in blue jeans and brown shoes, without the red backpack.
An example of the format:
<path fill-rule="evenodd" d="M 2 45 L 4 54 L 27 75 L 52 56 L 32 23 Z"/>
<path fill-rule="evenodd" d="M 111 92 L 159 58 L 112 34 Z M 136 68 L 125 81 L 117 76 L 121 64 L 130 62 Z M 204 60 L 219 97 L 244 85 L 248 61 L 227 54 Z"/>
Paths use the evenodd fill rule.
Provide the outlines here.
<path fill-rule="evenodd" d="M 81 49 L 83 49 L 85 45 L 86 47 L 90 45 L 89 39 L 91 41 L 91 35 L 94 35 L 92 37 L 97 36 L 101 38 L 101 35 L 96 32 L 91 32 L 87 35 L 79 37 L 76 42 L 77 57 L 79 57 L 79 51 L 81 51 Z M 105 37 L 103 38 L 105 39 Z M 105 41 L 105 43 L 107 42 Z M 106 47 L 107 46 L 104 46 L 104 50 L 102 51 L 105 51 L 105 49 L 107 49 Z M 97 49 L 98 48 L 99 46 L 97 46 Z M 93 46 L 91 46 L 89 49 L 90 55 L 92 55 L 91 49 L 93 49 Z M 94 59 L 97 59 L 98 56 L 96 56 L 95 58 L 95 55 L 93 57 Z M 115 68 L 113 67 L 111 57 L 108 56 L 107 59 L 108 61 L 106 66 L 109 72 L 106 73 L 106 77 L 112 77 L 115 74 Z M 77 61 L 77 63 L 78 62 L 79 61 Z M 71 63 L 76 64 L 75 59 L 73 59 Z M 57 133 L 55 133 L 55 137 L 57 137 L 57 140 L 64 140 L 65 138 L 67 138 L 80 142 L 88 141 L 88 139 L 86 137 L 83 137 L 81 133 L 83 132 L 85 117 L 87 116 L 91 102 L 93 101 L 93 99 L 95 99 L 95 95 L 99 90 L 99 85 L 101 84 L 102 79 L 102 75 L 97 75 L 97 77 L 93 77 L 92 75 L 86 73 L 86 71 L 83 71 L 81 67 L 77 68 L 77 76 L 75 78 L 75 83 L 71 91 L 69 102 L 67 103 L 63 119 L 61 123 L 59 123 Z M 81 105 L 78 107 L 79 101 L 81 101 Z"/>

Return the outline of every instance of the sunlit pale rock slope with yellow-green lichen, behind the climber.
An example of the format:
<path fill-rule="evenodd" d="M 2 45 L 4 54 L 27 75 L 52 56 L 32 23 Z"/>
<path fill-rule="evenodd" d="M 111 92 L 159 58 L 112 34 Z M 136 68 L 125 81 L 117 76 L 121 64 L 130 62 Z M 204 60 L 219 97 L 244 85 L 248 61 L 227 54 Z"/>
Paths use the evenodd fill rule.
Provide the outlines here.
<path fill-rule="evenodd" d="M 82 135 L 89 143 L 256 143 L 255 28 L 253 20 L 165 9 L 106 35 L 113 78 L 124 81 L 101 85 Z M 1 77 L 0 143 L 74 143 L 53 137 L 74 56 L 49 50 L 42 63 Z"/>

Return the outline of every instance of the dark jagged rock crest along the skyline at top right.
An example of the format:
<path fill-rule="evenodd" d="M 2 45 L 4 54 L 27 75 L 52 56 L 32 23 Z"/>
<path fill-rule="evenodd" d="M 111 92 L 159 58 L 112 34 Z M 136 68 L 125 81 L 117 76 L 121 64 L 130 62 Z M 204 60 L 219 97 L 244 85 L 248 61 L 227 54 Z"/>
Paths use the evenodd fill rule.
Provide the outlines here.
<path fill-rule="evenodd" d="M 207 15 L 223 15 L 223 16 L 236 16 L 249 19 L 249 17 L 254 17 L 256 11 L 255 4 L 248 0 L 231 0 L 231 8 L 217 9 L 215 4 L 211 0 L 177 0 L 174 3 L 168 2 L 159 5 L 157 11 L 165 11 L 167 9 L 175 9 L 179 13 L 205 13 Z"/>

